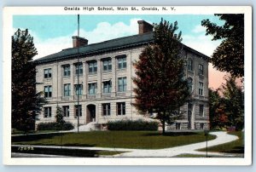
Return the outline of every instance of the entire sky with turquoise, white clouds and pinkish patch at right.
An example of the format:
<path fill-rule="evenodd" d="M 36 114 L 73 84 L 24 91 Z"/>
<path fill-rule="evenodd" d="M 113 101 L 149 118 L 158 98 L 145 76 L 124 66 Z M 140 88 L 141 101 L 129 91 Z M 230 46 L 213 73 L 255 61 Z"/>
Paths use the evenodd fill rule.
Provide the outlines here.
<path fill-rule="evenodd" d="M 149 23 L 159 23 L 161 18 L 174 22 L 177 20 L 179 31 L 182 32 L 183 43 L 192 49 L 211 56 L 218 47 L 219 41 L 212 41 L 206 36 L 206 28 L 201 26 L 201 20 L 209 19 L 218 25 L 224 24 L 217 16 L 206 14 L 80 14 L 80 37 L 85 37 L 89 43 L 99 43 L 117 37 L 135 35 L 138 32 L 137 20 Z M 61 49 L 72 48 L 72 36 L 77 35 L 78 18 L 73 15 L 14 15 L 13 32 L 18 28 L 28 29 L 34 37 L 38 55 L 34 59 L 54 54 Z M 214 81 L 214 88 L 222 83 L 219 78 L 224 75 L 209 66 L 209 73 Z M 215 78 L 216 77 L 216 78 Z M 219 80 L 219 83 L 216 81 Z M 211 81 L 210 81 L 211 86 Z"/>

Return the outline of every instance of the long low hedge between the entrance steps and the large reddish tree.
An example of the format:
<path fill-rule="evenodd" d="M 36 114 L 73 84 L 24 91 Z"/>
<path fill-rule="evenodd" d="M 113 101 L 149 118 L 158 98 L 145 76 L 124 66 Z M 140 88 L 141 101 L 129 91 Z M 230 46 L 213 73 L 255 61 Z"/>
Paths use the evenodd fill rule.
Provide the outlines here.
<path fill-rule="evenodd" d="M 150 130 L 155 131 L 158 129 L 157 122 L 148 122 L 143 120 L 131 121 L 109 121 L 107 123 L 108 130 Z"/>

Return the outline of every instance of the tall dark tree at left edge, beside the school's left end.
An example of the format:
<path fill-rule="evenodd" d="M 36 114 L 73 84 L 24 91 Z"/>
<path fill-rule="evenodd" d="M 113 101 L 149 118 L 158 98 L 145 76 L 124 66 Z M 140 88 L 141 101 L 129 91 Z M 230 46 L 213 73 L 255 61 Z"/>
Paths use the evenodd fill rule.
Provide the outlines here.
<path fill-rule="evenodd" d="M 33 37 L 20 29 L 12 36 L 12 128 L 25 132 L 35 128 L 44 98 L 36 91 L 36 64 L 38 54 Z"/>

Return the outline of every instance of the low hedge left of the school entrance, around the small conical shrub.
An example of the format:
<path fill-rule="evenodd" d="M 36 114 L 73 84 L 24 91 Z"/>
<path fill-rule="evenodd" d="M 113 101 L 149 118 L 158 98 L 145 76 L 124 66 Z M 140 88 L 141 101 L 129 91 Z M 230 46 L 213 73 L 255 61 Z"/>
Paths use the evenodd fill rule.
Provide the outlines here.
<path fill-rule="evenodd" d="M 73 129 L 73 124 L 70 122 L 65 122 L 61 126 L 60 123 L 38 123 L 38 130 L 70 130 Z"/>

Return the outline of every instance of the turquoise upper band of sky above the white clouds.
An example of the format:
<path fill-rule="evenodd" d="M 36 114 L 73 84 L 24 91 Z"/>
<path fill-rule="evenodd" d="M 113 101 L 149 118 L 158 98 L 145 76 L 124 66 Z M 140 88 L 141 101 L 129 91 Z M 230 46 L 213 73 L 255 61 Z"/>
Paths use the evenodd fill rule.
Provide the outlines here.
<path fill-rule="evenodd" d="M 191 28 L 201 25 L 201 20 L 210 19 L 221 23 L 218 17 L 212 15 L 178 14 L 178 15 L 80 15 L 80 28 L 87 32 L 93 31 L 98 23 L 108 22 L 113 25 L 123 22 L 129 25 L 131 19 L 143 19 L 151 23 L 164 20 L 174 22 L 177 20 L 179 29 L 183 34 L 196 35 Z M 28 28 L 44 39 L 63 37 L 77 30 L 77 15 L 15 15 L 14 28 Z"/>

